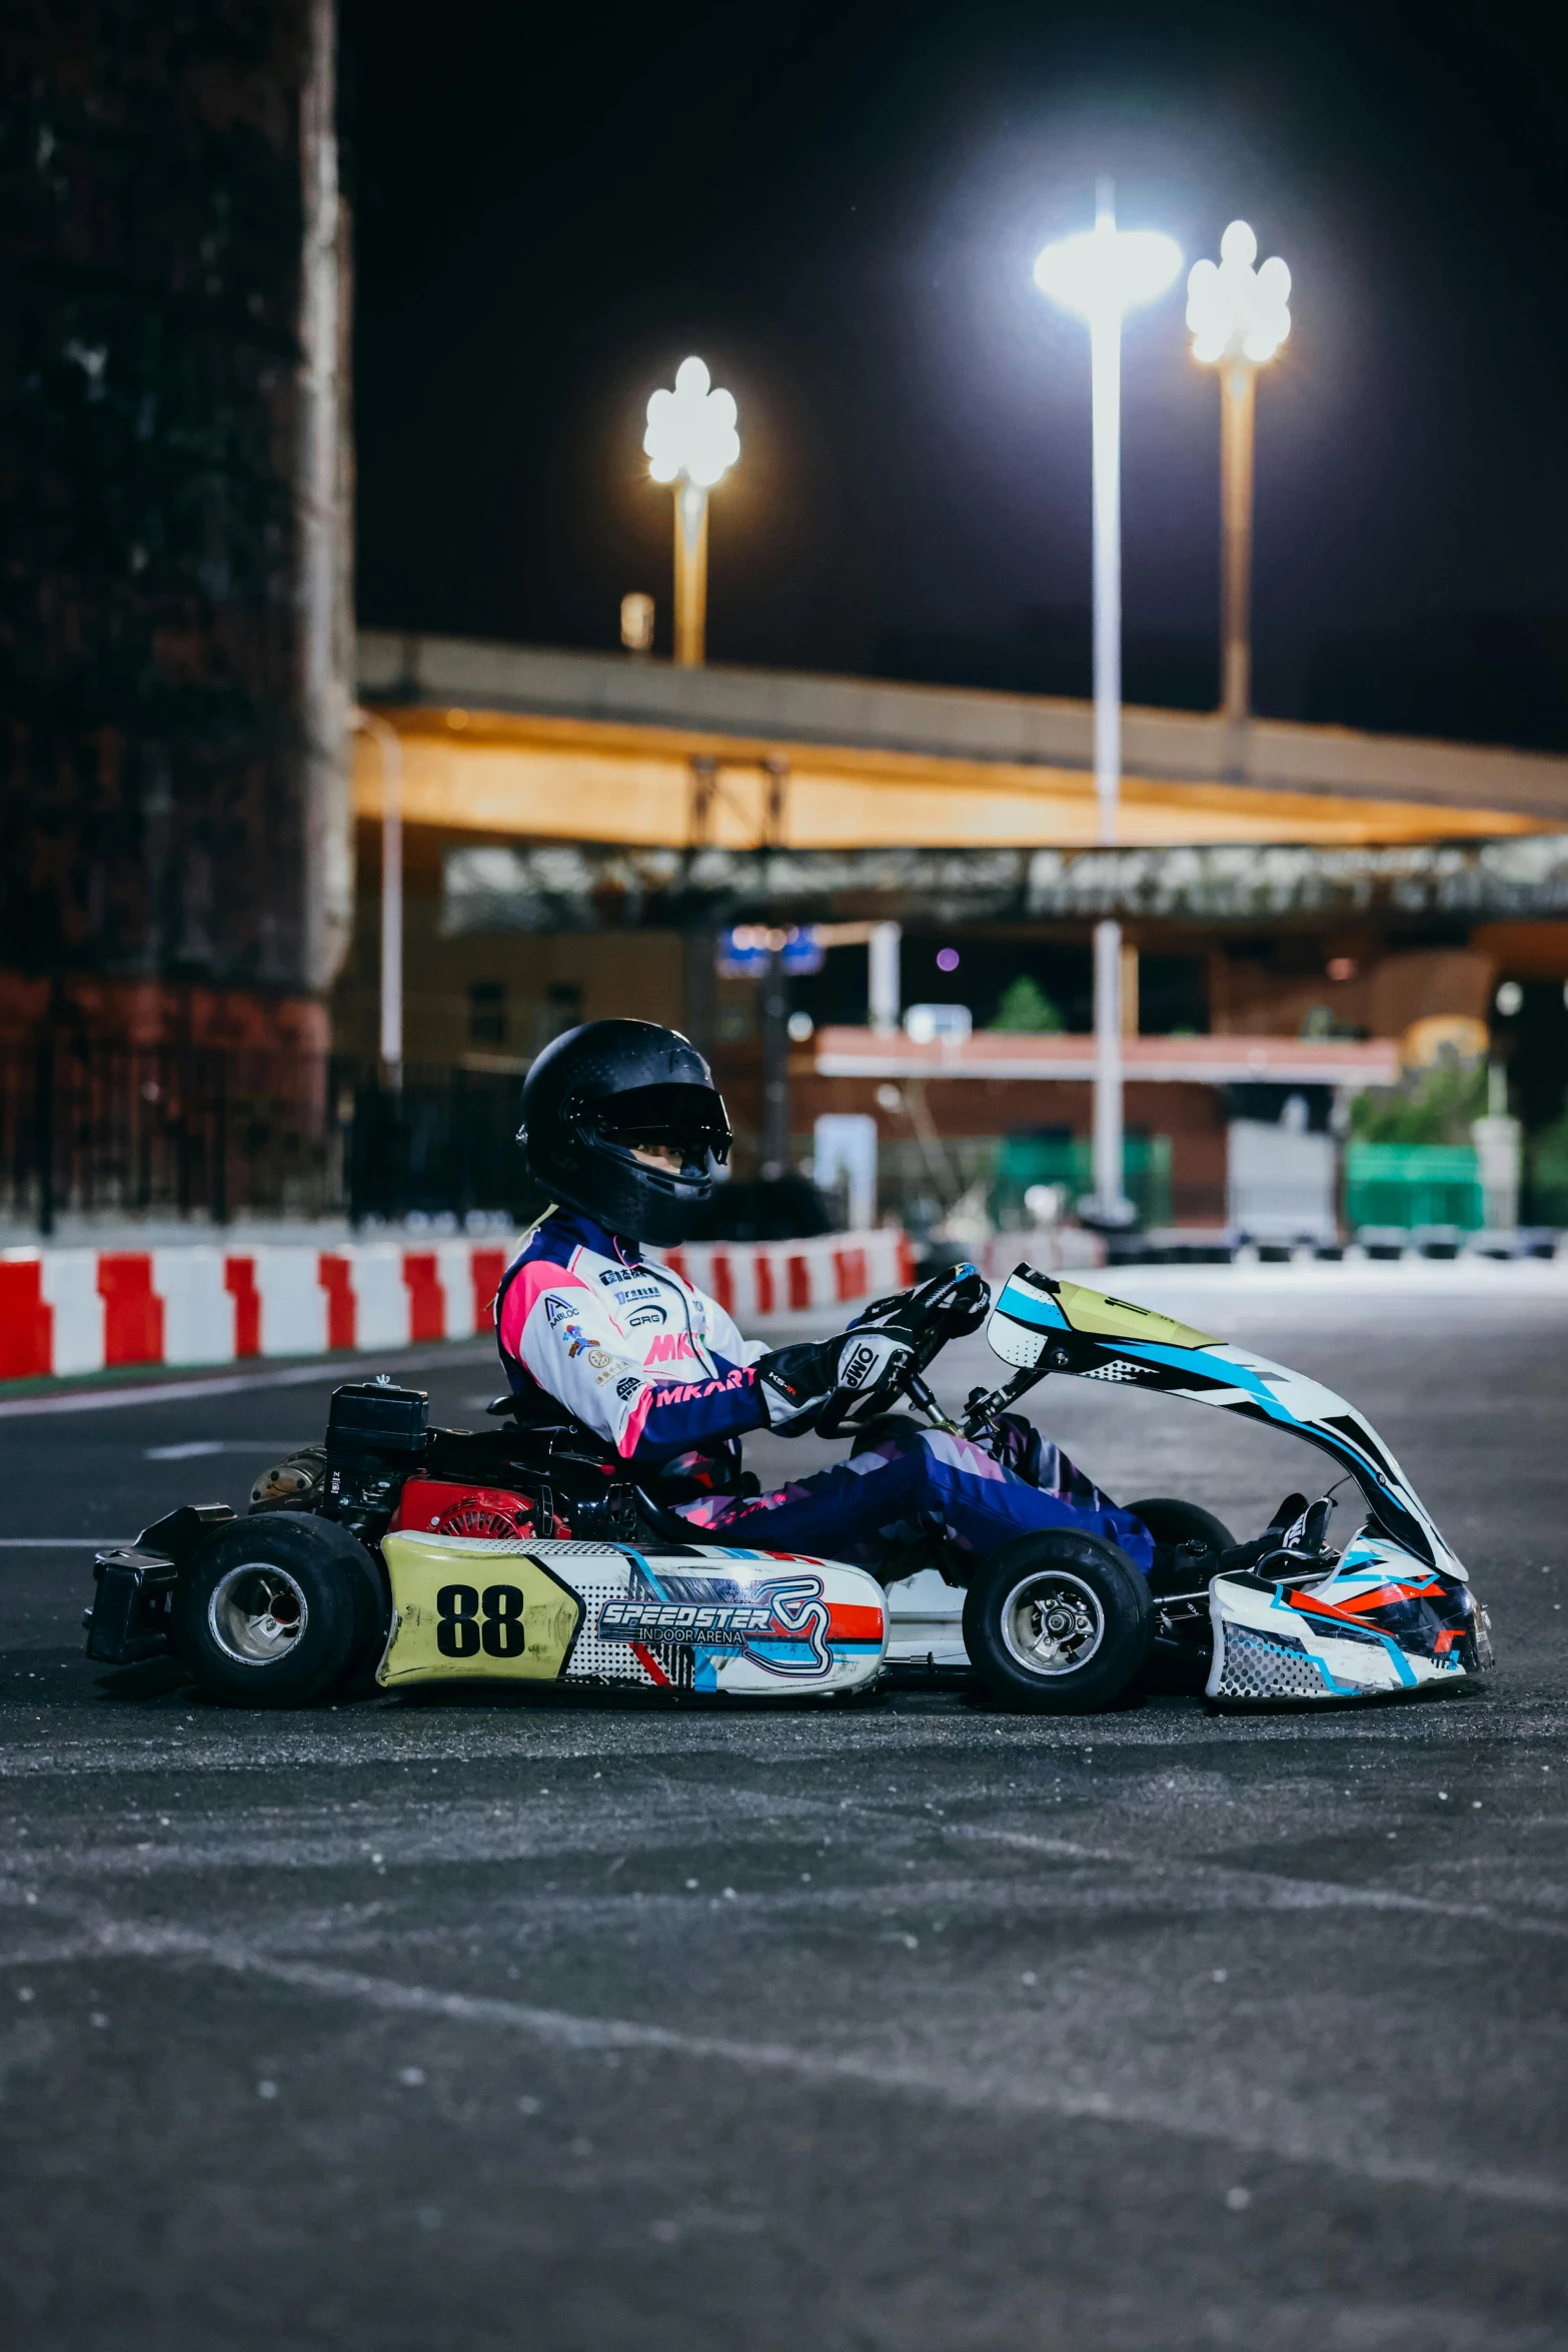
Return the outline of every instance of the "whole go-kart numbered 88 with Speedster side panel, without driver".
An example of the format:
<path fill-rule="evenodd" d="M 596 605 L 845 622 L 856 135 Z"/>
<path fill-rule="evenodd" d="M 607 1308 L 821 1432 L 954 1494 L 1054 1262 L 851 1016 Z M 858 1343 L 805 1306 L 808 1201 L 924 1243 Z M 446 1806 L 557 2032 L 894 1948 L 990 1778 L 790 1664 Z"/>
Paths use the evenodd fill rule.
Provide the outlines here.
<path fill-rule="evenodd" d="M 961 1418 L 924 1374 L 987 1317 L 1011 1367 Z M 252 1512 L 186 1503 L 94 1564 L 87 1656 L 174 1656 L 233 1705 L 437 1682 L 632 1684 L 729 1698 L 844 1696 L 889 1661 L 889 1602 L 922 1566 L 964 1588 L 964 1651 L 987 1691 L 1037 1712 L 1114 1703 L 1159 1663 L 1220 1703 L 1450 1689 L 1490 1665 L 1486 1613 L 1387 1446 L 1342 1397 L 1185 1324 L 1020 1265 L 994 1305 L 973 1265 L 877 1301 L 851 1329 L 907 1355 L 842 1390 L 818 1435 L 875 1442 L 893 1406 L 978 1442 L 1048 1374 L 1157 1388 L 1293 1430 L 1368 1503 L 1342 1555 L 1333 1501 L 1286 1512 L 1237 1569 L 1227 1529 L 1147 1498 L 1154 1578 L 1072 1529 L 971 1562 L 922 1538 L 863 1569 L 693 1541 L 658 1489 L 548 1397 L 498 1397 L 494 1430 L 433 1430 L 386 1376 L 334 1392 L 324 1446 L 259 1482 Z M 903 1416 L 907 1418 L 907 1416 Z M 1300 1503 L 1300 1498 L 1293 1498 Z M 924 1545 L 924 1548 L 922 1548 Z"/>

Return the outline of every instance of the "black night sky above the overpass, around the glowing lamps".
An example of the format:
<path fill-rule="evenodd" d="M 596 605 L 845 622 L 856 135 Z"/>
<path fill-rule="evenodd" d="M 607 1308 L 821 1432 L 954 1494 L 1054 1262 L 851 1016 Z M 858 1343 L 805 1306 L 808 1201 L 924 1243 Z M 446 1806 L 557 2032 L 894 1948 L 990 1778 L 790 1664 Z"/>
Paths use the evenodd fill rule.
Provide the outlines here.
<path fill-rule="evenodd" d="M 710 659 L 1088 689 L 1088 336 L 1041 242 L 1295 278 L 1258 400 L 1255 701 L 1568 746 L 1561 12 L 346 0 L 360 616 L 670 619 L 646 393 L 741 402 Z M 1218 386 L 1126 339 L 1128 699 L 1215 701 Z"/>

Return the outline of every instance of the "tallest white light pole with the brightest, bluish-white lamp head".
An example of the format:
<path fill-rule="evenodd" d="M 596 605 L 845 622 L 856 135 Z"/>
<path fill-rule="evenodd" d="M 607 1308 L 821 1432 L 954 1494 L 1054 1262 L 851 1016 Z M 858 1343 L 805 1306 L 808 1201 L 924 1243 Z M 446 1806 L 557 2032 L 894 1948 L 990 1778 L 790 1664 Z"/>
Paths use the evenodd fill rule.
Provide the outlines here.
<path fill-rule="evenodd" d="M 1093 419 L 1093 670 L 1100 842 L 1117 840 L 1121 797 L 1121 320 L 1154 301 L 1182 266 L 1171 238 L 1117 228 L 1112 183 L 1095 191 L 1095 226 L 1046 245 L 1034 285 L 1088 320 Z M 1121 924 L 1095 924 L 1093 1218 L 1131 1225 L 1121 1181 Z"/>

